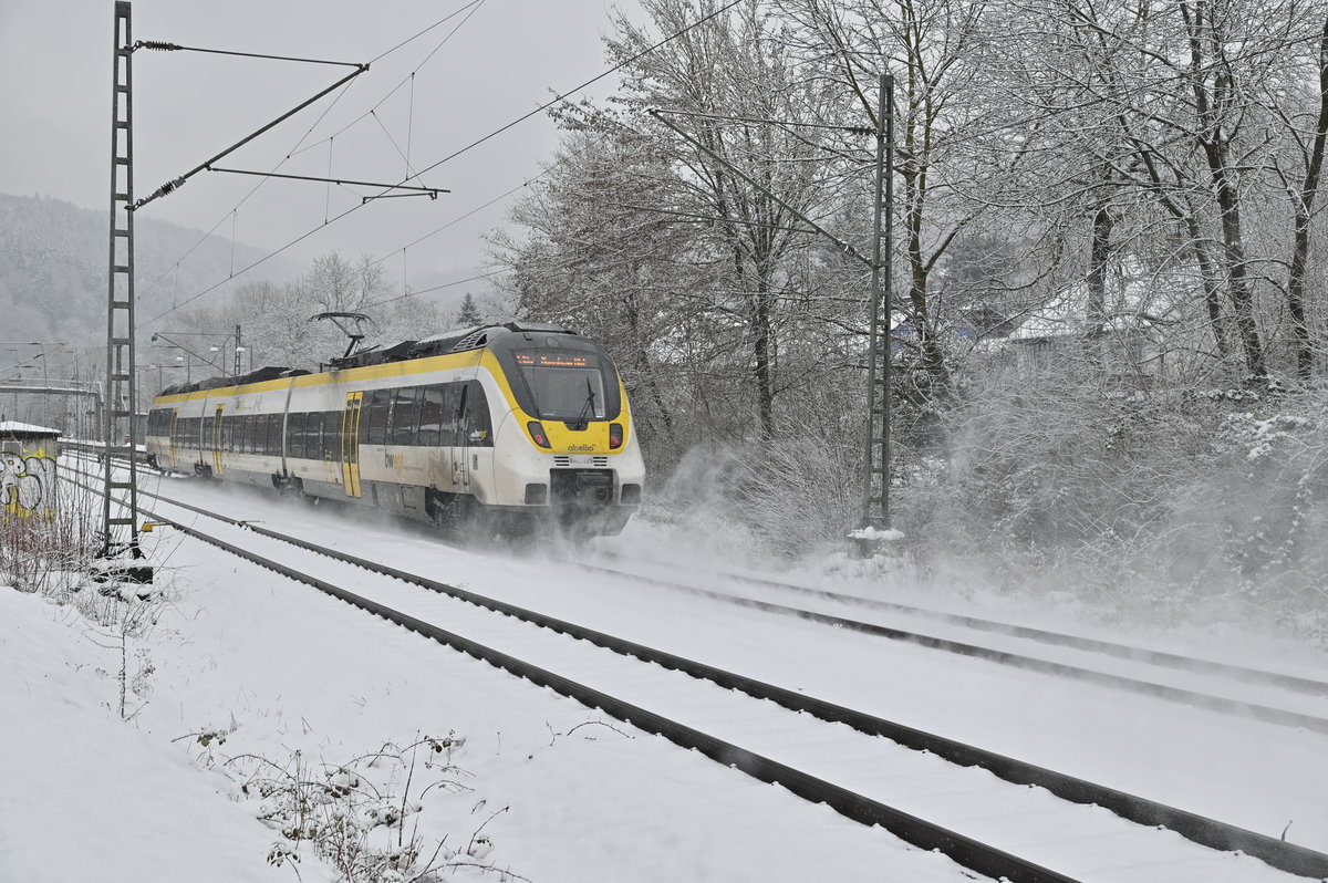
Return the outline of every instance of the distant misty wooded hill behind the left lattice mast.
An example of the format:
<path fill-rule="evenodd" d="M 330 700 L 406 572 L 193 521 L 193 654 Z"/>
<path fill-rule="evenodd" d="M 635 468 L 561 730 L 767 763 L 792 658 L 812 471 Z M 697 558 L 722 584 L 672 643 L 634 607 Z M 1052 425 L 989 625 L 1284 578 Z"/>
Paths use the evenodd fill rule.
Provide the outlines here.
<path fill-rule="evenodd" d="M 201 230 L 143 218 L 134 226 L 134 239 L 139 319 L 226 279 L 232 267 L 231 242 L 222 236 L 208 236 L 181 260 L 203 239 Z M 234 266 L 263 255 L 236 243 Z M 0 194 L 0 337 L 64 340 L 74 347 L 104 340 L 108 263 L 105 211 Z"/>

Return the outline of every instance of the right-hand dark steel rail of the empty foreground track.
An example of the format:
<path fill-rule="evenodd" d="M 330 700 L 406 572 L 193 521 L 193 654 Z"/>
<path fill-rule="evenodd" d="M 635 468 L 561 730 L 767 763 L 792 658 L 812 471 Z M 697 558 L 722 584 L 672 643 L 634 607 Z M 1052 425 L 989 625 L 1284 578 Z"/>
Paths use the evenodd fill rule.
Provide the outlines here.
<path fill-rule="evenodd" d="M 919 752 L 930 752 L 959 766 L 980 766 L 992 773 L 993 775 L 1013 785 L 1037 786 L 1050 791 L 1056 797 L 1065 799 L 1068 802 L 1102 806 L 1104 809 L 1108 809 L 1130 822 L 1143 826 L 1165 827 L 1194 843 L 1198 843 L 1208 848 L 1219 851 L 1240 851 L 1263 860 L 1271 867 L 1287 871 L 1289 874 L 1296 874 L 1315 879 L 1328 878 L 1328 855 L 1317 852 L 1315 850 L 1296 846 L 1293 843 L 1287 843 L 1286 841 L 1280 841 L 1264 834 L 1258 834 L 1255 831 L 1250 831 L 1234 825 L 1227 825 L 1224 822 L 1219 822 L 1216 819 L 1211 819 L 1199 815 L 1197 813 L 1190 813 L 1178 807 L 1167 806 L 1165 803 L 1158 803 L 1155 801 L 1150 801 L 1143 797 L 1138 797 L 1102 785 L 1097 785 L 1086 779 L 1080 779 L 1073 775 L 1058 773 L 1007 756 L 996 754 L 993 752 L 987 752 L 984 749 L 957 742 L 954 740 L 948 740 L 942 736 L 936 736 L 934 733 L 927 733 L 924 730 L 918 730 L 894 721 L 857 712 L 841 705 L 834 705 L 831 702 L 826 702 L 823 700 L 818 700 L 799 692 L 789 690 L 781 686 L 774 686 L 772 684 L 765 684 L 762 681 L 742 675 L 737 675 L 733 672 L 706 665 L 704 663 L 699 663 L 696 660 L 676 656 L 673 653 L 645 647 L 643 644 L 628 641 L 625 639 L 614 637 L 603 632 L 598 632 L 590 628 L 584 628 L 582 625 L 576 625 L 574 623 L 567 623 L 564 620 L 546 616 L 543 613 L 517 607 L 514 604 L 507 604 L 505 602 L 490 599 L 478 595 L 475 592 L 458 588 L 456 586 L 449 586 L 438 580 L 420 576 L 417 574 L 401 571 L 398 568 L 381 564 L 378 562 L 373 562 L 365 558 L 360 558 L 357 555 L 351 555 L 348 552 L 343 552 L 339 550 L 327 548 L 317 543 L 312 543 L 296 536 L 290 536 L 287 534 L 282 534 L 279 531 L 258 526 L 252 522 L 228 518 L 226 515 L 211 513 L 206 509 L 190 503 L 170 501 L 159 494 L 153 494 L 150 491 L 141 491 L 141 493 L 162 499 L 163 502 L 167 502 L 171 506 L 177 506 L 187 511 L 194 511 L 201 515 L 214 518 L 216 521 L 236 527 L 251 530 L 270 539 L 276 539 L 296 546 L 299 548 L 304 548 L 305 551 L 325 555 L 328 558 L 341 560 L 344 563 L 353 564 L 364 570 L 381 574 L 384 576 L 392 576 L 394 579 L 412 583 L 438 594 L 448 595 L 457 600 L 467 602 L 470 604 L 475 604 L 478 607 L 483 607 L 494 612 L 503 613 L 506 616 L 511 616 L 514 619 L 531 623 L 534 625 L 539 625 L 542 628 L 548 628 L 551 631 L 567 635 L 574 639 L 586 640 L 598 647 L 610 649 L 612 652 L 624 656 L 632 656 L 645 663 L 655 663 L 663 668 L 679 671 L 699 680 L 706 680 L 718 686 L 742 692 L 753 698 L 769 700 L 789 710 L 806 712 L 819 720 L 827 722 L 845 724 L 861 733 L 883 737 L 904 748 L 910 748 Z M 154 518 L 161 518 L 161 517 L 154 515 Z M 179 526 L 177 522 L 171 522 L 170 519 L 161 518 L 161 521 Z M 182 526 L 181 528 L 185 530 L 186 532 L 190 532 L 193 530 L 193 528 L 183 528 Z M 247 552 L 243 554 L 247 555 Z M 608 712 L 608 709 L 604 710 L 606 713 L 612 713 Z M 614 716 L 618 717 L 616 714 Z M 770 762 L 773 763 L 773 761 Z M 849 813 L 845 814 L 850 815 Z M 850 815 L 850 818 L 855 817 Z M 927 848 L 934 848 L 934 847 L 927 847 Z"/>

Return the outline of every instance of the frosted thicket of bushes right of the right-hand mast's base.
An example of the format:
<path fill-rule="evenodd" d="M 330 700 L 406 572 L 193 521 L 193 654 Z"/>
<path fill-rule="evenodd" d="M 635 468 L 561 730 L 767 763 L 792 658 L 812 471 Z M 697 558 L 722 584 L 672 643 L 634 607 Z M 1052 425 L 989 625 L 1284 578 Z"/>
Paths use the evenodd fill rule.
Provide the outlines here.
<path fill-rule="evenodd" d="M 1262 613 L 1328 643 L 1328 396 L 977 381 L 898 495 L 938 571 L 1154 617 Z"/>

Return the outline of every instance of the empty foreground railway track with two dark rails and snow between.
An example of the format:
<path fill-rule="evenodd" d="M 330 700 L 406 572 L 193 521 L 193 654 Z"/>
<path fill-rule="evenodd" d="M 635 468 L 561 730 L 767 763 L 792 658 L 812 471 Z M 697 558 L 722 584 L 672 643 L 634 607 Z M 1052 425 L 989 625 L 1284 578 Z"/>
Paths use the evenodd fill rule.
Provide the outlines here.
<path fill-rule="evenodd" d="M 606 663 L 606 656 L 616 659 L 616 665 L 620 665 L 624 660 L 653 663 L 655 665 L 651 667 L 652 671 L 657 669 L 659 672 L 669 672 L 675 679 L 684 675 L 691 676 L 692 684 L 704 684 L 710 690 L 718 688 L 721 692 L 729 694 L 738 692 L 745 697 L 749 697 L 746 700 L 748 702 L 773 702 L 781 709 L 785 709 L 785 714 L 788 714 L 789 710 L 802 712 L 803 714 L 794 716 L 794 720 L 801 721 L 801 728 L 807 726 L 807 721 L 803 718 L 815 721 L 817 725 L 810 729 L 817 734 L 813 737 L 799 737 L 798 741 L 805 742 L 809 738 L 813 742 L 825 741 L 827 745 L 825 754 L 829 757 L 862 757 L 865 753 L 866 756 L 880 756 L 882 765 L 890 769 L 894 769 L 898 763 L 906 762 L 910 765 L 910 769 L 912 769 L 912 765 L 916 763 L 926 766 L 944 762 L 951 767 L 950 771 L 928 769 L 926 773 L 920 773 L 915 770 L 906 773 L 904 781 L 910 781 L 916 777 L 950 778 L 956 774 L 964 775 L 963 773 L 959 773 L 959 770 L 967 769 L 969 770 L 967 773 L 969 779 L 964 785 L 960 785 L 957 790 L 959 793 L 969 795 L 981 795 L 989 790 L 989 783 L 971 779 L 975 770 L 987 770 L 1005 783 L 1003 794 L 992 799 L 999 803 L 1005 803 L 1011 799 L 1025 801 L 1029 799 L 1029 794 L 1036 794 L 1037 798 L 1033 801 L 1035 803 L 1037 801 L 1050 801 L 1049 806 L 1037 806 L 1036 809 L 1028 809 L 1027 811 L 1032 815 L 1053 814 L 1057 818 L 1057 826 L 1068 825 L 1074 829 L 1074 834 L 1070 835 L 1069 839 L 1073 839 L 1074 837 L 1093 837 L 1090 834 L 1084 834 L 1076 826 L 1080 823 L 1088 825 L 1088 815 L 1101 815 L 1101 810 L 1092 809 L 1096 805 L 1097 807 L 1109 809 L 1120 817 L 1113 819 L 1116 825 L 1125 825 L 1122 819 L 1135 823 L 1133 826 L 1127 826 L 1129 829 L 1133 829 L 1127 834 L 1113 830 L 1112 834 L 1106 837 L 1143 837 L 1143 833 L 1155 833 L 1154 826 L 1163 826 L 1165 829 L 1175 831 L 1194 843 L 1207 846 L 1214 850 L 1240 851 L 1247 855 L 1256 856 L 1268 866 L 1289 874 L 1311 878 L 1324 878 L 1328 875 L 1328 856 L 1296 847 L 1293 844 L 1283 843 L 1282 841 L 1274 838 L 1244 831 L 1193 813 L 1186 813 L 1153 801 L 1123 794 L 1113 789 L 1106 789 L 1084 779 L 1062 775 L 1053 770 L 1046 770 L 1031 763 L 984 752 L 972 745 L 964 745 L 935 734 L 902 726 L 879 717 L 872 717 L 853 709 L 833 705 L 830 702 L 805 696 L 801 692 L 788 690 L 736 675 L 733 672 L 720 671 L 696 660 L 684 659 L 644 647 L 641 644 L 633 644 L 619 637 L 594 632 L 572 623 L 556 620 L 534 611 L 523 609 L 494 599 L 482 598 L 458 587 L 386 567 L 378 562 L 371 562 L 345 552 L 339 552 L 336 550 L 323 548 L 316 543 L 287 536 L 258 524 L 246 524 L 236 522 L 235 519 L 218 517 L 201 507 L 182 505 L 178 502 L 166 502 L 166 505 L 218 519 L 218 528 L 214 528 L 212 531 L 202 531 L 198 527 L 186 524 L 178 515 L 173 518 L 161 511 L 153 513 L 154 518 L 173 523 L 183 532 L 218 544 L 230 552 L 243 555 L 255 563 L 270 567 L 292 579 L 299 579 L 300 582 L 315 586 L 320 591 L 368 609 L 390 621 L 398 623 L 406 628 L 428 635 L 434 640 L 440 640 L 445 644 L 462 649 L 463 652 L 485 659 L 499 668 L 517 673 L 534 682 L 550 686 L 559 693 L 578 698 L 591 708 L 600 708 L 606 713 L 629 721 L 641 729 L 652 733 L 660 733 L 679 745 L 693 748 L 714 760 L 737 766 L 742 771 L 760 778 L 761 781 L 780 782 L 801 797 L 815 802 L 826 802 L 842 814 L 859 822 L 880 825 L 903 839 L 915 843 L 920 848 L 940 850 L 964 867 L 983 874 L 1007 876 L 1012 880 L 1074 879 L 1066 874 L 1057 874 L 1048 870 L 1048 867 L 1066 867 L 1066 864 L 1062 863 L 1064 856 L 1058 856 L 1054 848 L 1049 852 L 1050 859 L 1053 860 L 1048 862 L 1038 863 L 1016 858 L 1015 852 L 1019 851 L 1017 848 L 993 847 L 985 842 L 985 837 L 965 837 L 956 834 L 952 829 L 946 827 L 940 822 L 924 821 L 919 817 L 919 814 L 908 811 L 908 807 L 900 809 L 899 806 L 876 799 L 870 794 L 857 793 L 843 785 L 835 785 L 831 781 L 835 778 L 833 775 L 818 775 L 814 771 L 801 769 L 801 766 L 777 760 L 776 756 L 778 752 L 762 753 L 740 746 L 740 741 L 744 744 L 749 741 L 760 744 L 761 737 L 758 733 L 748 733 L 742 740 L 724 738 L 722 736 L 706 732 L 706 729 L 692 726 L 681 720 L 676 720 L 668 713 L 648 710 L 643 706 L 643 704 L 633 702 L 631 698 L 622 698 L 618 696 L 618 689 L 606 690 L 602 686 L 595 686 L 592 682 L 587 681 L 595 681 L 596 675 L 608 665 L 608 663 Z M 230 531 L 230 536 L 224 535 L 227 531 Z M 262 542 L 256 538 L 262 538 Z M 256 548 L 258 546 L 263 546 L 267 551 Z M 282 547 L 286 548 L 284 552 L 282 551 Z M 291 547 L 295 547 L 297 552 L 292 552 Z M 288 563 L 292 554 L 301 556 L 301 560 L 309 562 L 315 562 L 313 556 L 319 556 L 324 563 L 321 566 L 311 563 L 305 567 L 296 568 Z M 324 567 L 329 566 L 328 562 L 335 562 L 336 567 L 353 567 L 361 572 L 361 576 L 355 578 L 347 575 L 345 571 L 339 571 L 341 576 L 328 579 L 327 574 L 323 571 Z M 320 576 L 311 571 L 324 572 L 324 575 Z M 386 588 L 386 583 L 382 580 L 374 583 L 373 590 L 368 592 L 353 588 L 357 583 L 363 582 L 364 571 L 390 578 L 392 588 Z M 405 583 L 410 583 L 417 588 L 409 590 Z M 430 591 L 418 592 L 418 587 L 424 587 Z M 446 599 L 446 603 L 449 604 L 449 612 L 446 616 L 440 619 L 437 616 L 437 611 L 428 616 L 420 616 L 420 611 L 417 609 L 416 612 L 412 612 L 416 605 L 420 604 L 425 608 L 429 607 L 429 604 L 424 604 L 424 602 L 420 600 L 424 596 L 429 596 L 436 602 Z M 466 608 L 469 612 L 462 615 L 458 612 L 461 608 Z M 479 615 L 479 620 L 475 620 L 477 612 Z M 503 613 L 503 616 L 495 617 L 493 616 L 494 612 Z M 459 629 L 442 629 L 436 624 L 438 621 L 448 621 L 449 625 L 452 625 L 462 619 L 466 620 L 470 628 L 474 628 L 481 635 L 490 633 L 494 623 L 501 620 L 513 624 L 519 629 L 534 629 L 535 632 L 546 636 L 540 639 L 542 641 L 548 640 L 548 636 L 554 635 L 564 636 L 559 649 L 546 651 L 550 653 L 550 657 L 564 659 L 567 655 L 566 639 L 578 639 L 574 641 L 578 647 L 587 645 L 596 648 L 595 652 L 591 653 L 595 661 L 587 661 L 583 668 L 578 669 L 580 672 L 587 672 L 588 676 L 555 673 L 550 668 L 535 667 L 531 663 L 521 661 L 518 656 L 510 652 L 497 649 L 491 645 L 494 643 L 491 640 L 477 640 L 475 637 L 461 635 Z M 510 627 L 511 625 L 509 625 L 509 628 Z M 529 637 L 529 635 L 518 641 L 518 644 L 525 647 L 526 637 Z M 633 673 L 627 676 L 627 679 L 629 681 L 639 680 L 641 677 L 641 667 L 633 663 L 632 669 Z M 676 690 L 679 688 L 673 684 L 668 689 Z M 710 697 L 708 701 L 721 702 L 725 710 L 716 712 L 716 716 L 720 718 L 745 717 L 749 714 L 749 712 L 740 712 L 734 714 L 734 712 L 728 710 L 734 701 L 732 698 L 714 700 Z M 826 724 L 846 725 L 853 734 L 853 737 L 847 740 L 851 745 L 846 745 L 839 749 L 830 748 L 830 742 L 843 740 L 845 737 L 842 733 L 835 737 L 826 736 L 829 732 Z M 780 728 L 786 726 L 790 726 L 789 721 L 781 720 L 774 729 L 778 730 Z M 835 728 L 835 732 L 838 732 L 838 729 L 839 728 Z M 863 742 L 863 740 L 867 741 Z M 888 748 L 884 748 L 887 745 Z M 907 760 L 904 760 L 906 757 Z M 861 770 L 855 770 L 849 775 L 849 779 L 857 781 L 859 775 Z M 870 778 L 870 775 L 867 778 Z M 895 775 L 894 781 L 898 783 L 899 777 Z M 1037 786 L 1037 789 L 1029 791 L 1027 787 L 1020 787 L 1012 791 L 1012 785 L 1032 785 Z M 955 783 L 950 782 L 944 787 L 952 791 L 955 789 Z M 871 789 L 863 790 L 870 791 Z M 890 790 L 890 787 L 886 789 L 886 791 Z M 1017 798 L 1012 798 L 1011 794 L 1016 794 Z M 926 806 L 928 799 L 931 798 L 922 798 L 920 803 Z M 1076 803 L 1078 806 L 1070 806 L 1070 803 Z M 1066 818 L 1072 818 L 1073 821 L 1066 822 Z M 1094 819 L 1094 823 L 1101 825 L 1102 821 L 1104 819 L 1098 818 Z M 979 825 L 977 827 L 981 829 L 983 826 Z M 1108 823 L 1108 827 L 1110 827 L 1110 822 Z M 1016 837 L 1016 846 L 1019 844 L 1019 839 L 1020 838 Z M 1139 844 L 1135 851 L 1130 852 L 1130 855 L 1153 855 L 1157 854 L 1157 848 L 1155 843 Z M 1208 855 L 1211 856 L 1215 854 Z M 1041 859 L 1040 855 L 1035 858 Z M 1166 860 L 1170 862 L 1174 859 Z M 1195 860 L 1199 864 L 1204 863 L 1203 858 L 1198 858 Z M 1073 864 L 1074 862 L 1072 860 L 1070 866 Z M 1076 868 L 1069 872 L 1078 874 L 1080 871 Z M 1123 876 L 1093 879 L 1139 878 Z M 1186 876 L 1183 879 L 1191 878 Z M 1194 876 L 1193 879 L 1208 878 L 1201 875 Z"/>

